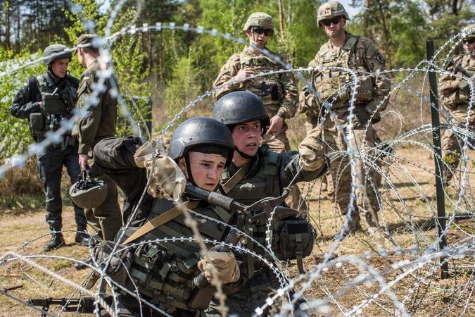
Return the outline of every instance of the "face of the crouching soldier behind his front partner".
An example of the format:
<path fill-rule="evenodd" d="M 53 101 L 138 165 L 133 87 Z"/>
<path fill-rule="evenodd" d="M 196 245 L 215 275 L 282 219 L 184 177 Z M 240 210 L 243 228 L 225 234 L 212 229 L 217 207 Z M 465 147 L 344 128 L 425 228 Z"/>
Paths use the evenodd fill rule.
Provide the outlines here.
<path fill-rule="evenodd" d="M 259 149 L 260 132 L 259 120 L 239 123 L 239 125 L 234 127 L 231 133 L 234 146 L 244 154 L 255 156 Z M 234 156 L 239 156 L 239 153 L 234 151 Z"/>

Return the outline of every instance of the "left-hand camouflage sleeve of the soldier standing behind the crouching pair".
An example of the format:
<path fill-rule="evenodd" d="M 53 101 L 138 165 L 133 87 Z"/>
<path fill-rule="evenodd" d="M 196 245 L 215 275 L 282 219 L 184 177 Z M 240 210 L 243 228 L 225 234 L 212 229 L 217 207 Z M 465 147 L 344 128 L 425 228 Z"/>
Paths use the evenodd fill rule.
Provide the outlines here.
<path fill-rule="evenodd" d="M 224 95 L 229 94 L 229 92 L 236 92 L 237 90 L 243 89 L 242 83 L 232 83 L 234 81 L 234 76 L 236 76 L 240 69 L 241 63 L 239 61 L 239 54 L 234 54 L 229 58 L 227 63 L 222 66 L 220 75 L 217 75 L 217 78 L 213 83 L 213 88 L 220 87 L 213 92 L 215 101 L 218 101 Z"/>

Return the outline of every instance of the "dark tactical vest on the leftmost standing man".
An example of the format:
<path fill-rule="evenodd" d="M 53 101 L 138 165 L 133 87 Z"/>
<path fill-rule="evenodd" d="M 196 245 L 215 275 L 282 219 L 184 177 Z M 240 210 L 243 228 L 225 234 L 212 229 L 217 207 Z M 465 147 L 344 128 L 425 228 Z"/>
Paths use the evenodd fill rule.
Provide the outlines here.
<path fill-rule="evenodd" d="M 61 120 L 70 116 L 77 101 L 77 88 L 70 85 L 69 78 L 65 80 L 61 89 L 54 91 L 48 85 L 44 75 L 37 76 L 36 83 L 30 80 L 30 86 L 37 85 L 43 101 L 42 112 L 32 113 L 30 116 L 30 130 L 34 137 L 42 137 L 47 131 L 58 130 Z"/>

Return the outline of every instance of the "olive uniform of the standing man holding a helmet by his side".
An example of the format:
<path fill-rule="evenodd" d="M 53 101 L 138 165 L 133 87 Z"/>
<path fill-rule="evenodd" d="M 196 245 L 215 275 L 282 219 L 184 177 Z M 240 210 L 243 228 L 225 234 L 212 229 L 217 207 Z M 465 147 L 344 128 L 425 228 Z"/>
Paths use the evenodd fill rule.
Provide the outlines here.
<path fill-rule="evenodd" d="M 88 42 L 89 43 L 89 42 Z M 78 44 L 86 44 L 80 43 Z M 77 91 L 77 107 L 82 108 L 87 99 L 91 96 L 92 87 L 99 78 L 96 72 L 100 69 L 99 63 L 93 61 L 82 73 L 81 82 Z M 110 83 L 113 80 L 113 84 Z M 92 150 L 97 142 L 115 134 L 115 122 L 117 118 L 117 98 L 112 97 L 110 89 L 117 88 L 117 83 L 113 77 L 105 82 L 106 91 L 99 94 L 99 104 L 89 107 L 87 118 L 81 118 L 75 126 L 75 133 L 79 139 L 79 154 L 86 154 L 92 158 L 91 173 L 94 178 L 103 180 L 108 186 L 108 196 L 100 206 L 94 209 L 85 209 L 89 225 L 91 225 L 99 236 L 104 240 L 113 240 L 120 227 L 122 227 L 122 213 L 118 203 L 118 192 L 115 183 L 108 178 L 99 168 L 94 165 Z"/>

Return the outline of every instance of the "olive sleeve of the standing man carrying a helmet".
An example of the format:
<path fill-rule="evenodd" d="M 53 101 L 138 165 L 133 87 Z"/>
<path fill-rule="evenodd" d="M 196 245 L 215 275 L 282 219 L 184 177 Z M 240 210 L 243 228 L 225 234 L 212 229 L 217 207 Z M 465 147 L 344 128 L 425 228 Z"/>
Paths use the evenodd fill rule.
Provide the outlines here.
<path fill-rule="evenodd" d="M 85 106 L 87 99 L 91 96 L 91 87 L 96 82 L 94 74 L 84 74 L 80 82 L 79 89 L 77 90 L 77 107 L 82 108 Z M 78 154 L 86 154 L 89 149 L 94 146 L 94 139 L 99 129 L 102 116 L 102 99 L 103 95 L 99 96 L 99 104 L 90 106 L 87 110 L 87 117 L 77 120 L 77 137 L 79 139 Z"/>

